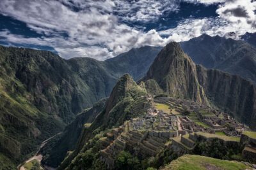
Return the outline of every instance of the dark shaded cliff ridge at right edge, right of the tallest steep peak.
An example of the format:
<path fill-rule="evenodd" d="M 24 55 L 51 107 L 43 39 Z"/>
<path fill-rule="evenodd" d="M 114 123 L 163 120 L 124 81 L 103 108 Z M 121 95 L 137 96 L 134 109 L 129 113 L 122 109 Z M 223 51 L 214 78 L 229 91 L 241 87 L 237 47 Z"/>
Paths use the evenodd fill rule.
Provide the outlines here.
<path fill-rule="evenodd" d="M 256 88 L 250 81 L 215 69 L 197 66 L 198 81 L 216 106 L 256 129 Z"/>

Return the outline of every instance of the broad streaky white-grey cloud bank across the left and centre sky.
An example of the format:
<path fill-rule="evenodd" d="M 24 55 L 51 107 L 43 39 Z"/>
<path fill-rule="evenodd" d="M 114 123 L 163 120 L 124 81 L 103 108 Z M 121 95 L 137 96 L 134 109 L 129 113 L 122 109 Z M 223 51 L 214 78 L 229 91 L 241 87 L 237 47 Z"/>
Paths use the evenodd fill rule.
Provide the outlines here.
<path fill-rule="evenodd" d="M 167 1 L 164 1 L 167 2 Z M 62 57 L 93 57 L 106 59 L 130 50 L 134 46 L 164 45 L 166 39 L 157 35 L 156 31 L 143 32 L 118 22 L 115 10 L 127 13 L 124 19 L 148 20 L 160 15 L 158 1 L 144 4 L 133 3 L 134 15 L 128 9 L 132 4 L 121 1 L 26 1 L 10 0 L 0 4 L 0 11 L 17 20 L 26 22 L 33 31 L 42 34 L 41 38 L 24 38 L 3 31 L 1 36 L 11 43 L 36 43 L 53 46 Z M 104 6 L 104 7 L 102 7 Z M 78 8 L 79 9 L 76 9 Z M 122 9 L 121 9 L 122 8 Z M 128 17 L 130 16 L 130 17 Z M 126 18 L 127 17 L 127 18 Z M 154 33 L 153 33 L 154 32 Z M 67 36 L 63 36 L 66 34 Z M 141 39 L 141 38 L 145 39 Z M 153 41 L 154 39 L 154 41 Z"/>

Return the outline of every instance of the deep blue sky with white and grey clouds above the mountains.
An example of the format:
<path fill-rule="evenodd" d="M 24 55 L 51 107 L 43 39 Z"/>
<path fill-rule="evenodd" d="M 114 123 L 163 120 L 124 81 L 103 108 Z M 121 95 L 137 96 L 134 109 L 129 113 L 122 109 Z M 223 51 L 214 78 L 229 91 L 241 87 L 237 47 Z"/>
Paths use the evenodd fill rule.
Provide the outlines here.
<path fill-rule="evenodd" d="M 232 34 L 230 34 L 232 32 Z M 1 0 L 0 44 L 105 60 L 201 34 L 256 32 L 255 0 Z"/>

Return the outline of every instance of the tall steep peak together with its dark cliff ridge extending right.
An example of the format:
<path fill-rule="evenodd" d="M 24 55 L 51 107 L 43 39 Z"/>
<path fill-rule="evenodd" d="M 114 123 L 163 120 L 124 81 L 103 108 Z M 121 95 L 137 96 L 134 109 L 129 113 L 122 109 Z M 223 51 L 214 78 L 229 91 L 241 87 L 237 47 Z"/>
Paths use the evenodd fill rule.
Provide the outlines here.
<path fill-rule="evenodd" d="M 194 64 L 177 43 L 169 43 L 157 55 L 142 80 L 151 79 L 169 96 L 206 104 L 209 101 L 256 128 L 255 85 L 237 75 Z"/>

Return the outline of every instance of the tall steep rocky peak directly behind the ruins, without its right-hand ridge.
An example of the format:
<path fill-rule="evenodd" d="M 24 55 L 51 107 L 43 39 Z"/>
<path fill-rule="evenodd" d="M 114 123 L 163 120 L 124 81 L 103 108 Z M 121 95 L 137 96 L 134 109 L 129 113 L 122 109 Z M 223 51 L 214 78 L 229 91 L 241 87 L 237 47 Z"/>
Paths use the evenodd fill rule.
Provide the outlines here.
<path fill-rule="evenodd" d="M 196 78 L 196 65 L 180 48 L 170 43 L 157 55 L 143 81 L 154 79 L 169 96 L 207 104 L 207 97 Z"/>

